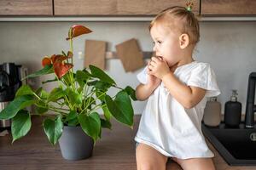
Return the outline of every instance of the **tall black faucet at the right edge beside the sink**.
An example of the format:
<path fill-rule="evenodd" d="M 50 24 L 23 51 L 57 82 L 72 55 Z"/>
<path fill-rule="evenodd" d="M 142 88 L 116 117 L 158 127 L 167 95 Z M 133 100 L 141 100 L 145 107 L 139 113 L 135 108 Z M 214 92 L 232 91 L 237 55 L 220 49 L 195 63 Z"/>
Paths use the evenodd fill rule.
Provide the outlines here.
<path fill-rule="evenodd" d="M 256 72 L 252 72 L 248 79 L 247 88 L 247 108 L 245 115 L 245 126 L 247 128 L 253 128 L 254 126 L 254 112 L 256 112 L 256 105 L 254 105 L 255 99 L 255 85 L 256 85 Z"/>

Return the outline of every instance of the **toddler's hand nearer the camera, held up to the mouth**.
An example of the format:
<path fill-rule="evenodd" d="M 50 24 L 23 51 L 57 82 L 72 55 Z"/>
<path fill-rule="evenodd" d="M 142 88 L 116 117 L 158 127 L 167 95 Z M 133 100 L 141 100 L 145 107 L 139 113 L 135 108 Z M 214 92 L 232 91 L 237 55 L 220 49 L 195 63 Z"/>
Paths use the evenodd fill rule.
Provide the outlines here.
<path fill-rule="evenodd" d="M 170 73 L 170 68 L 166 62 L 166 60 L 162 58 L 152 57 L 151 61 L 148 65 L 148 74 L 153 75 L 154 77 L 158 77 L 160 80 L 166 76 L 166 74 Z"/>

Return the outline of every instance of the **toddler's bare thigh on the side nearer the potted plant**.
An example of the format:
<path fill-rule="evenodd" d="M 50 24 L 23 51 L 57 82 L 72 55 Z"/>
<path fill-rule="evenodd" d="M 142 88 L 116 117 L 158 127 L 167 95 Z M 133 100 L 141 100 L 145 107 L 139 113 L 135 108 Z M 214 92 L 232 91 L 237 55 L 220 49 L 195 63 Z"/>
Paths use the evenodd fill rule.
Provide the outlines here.
<path fill-rule="evenodd" d="M 136 149 L 137 170 L 166 170 L 167 157 L 148 144 L 138 144 Z"/>

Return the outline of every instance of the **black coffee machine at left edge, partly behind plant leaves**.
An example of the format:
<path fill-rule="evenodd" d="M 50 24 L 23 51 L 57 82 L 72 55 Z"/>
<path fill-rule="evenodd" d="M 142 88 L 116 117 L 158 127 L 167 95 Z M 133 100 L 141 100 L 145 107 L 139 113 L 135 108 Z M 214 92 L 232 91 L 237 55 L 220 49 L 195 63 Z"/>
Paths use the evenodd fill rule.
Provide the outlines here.
<path fill-rule="evenodd" d="M 3 63 L 0 65 L 0 111 L 15 99 L 15 94 L 22 85 L 21 65 Z M 0 120 L 0 130 L 11 127 L 10 120 Z"/>

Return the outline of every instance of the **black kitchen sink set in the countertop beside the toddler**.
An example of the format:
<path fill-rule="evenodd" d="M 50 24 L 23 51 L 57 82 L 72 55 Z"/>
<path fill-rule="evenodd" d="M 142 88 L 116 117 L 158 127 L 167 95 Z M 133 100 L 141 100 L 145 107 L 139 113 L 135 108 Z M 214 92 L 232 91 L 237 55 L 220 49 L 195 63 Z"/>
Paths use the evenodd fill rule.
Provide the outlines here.
<path fill-rule="evenodd" d="M 221 122 L 218 127 L 202 123 L 202 132 L 218 153 L 231 166 L 256 166 L 256 125 L 246 128 L 226 127 Z"/>

